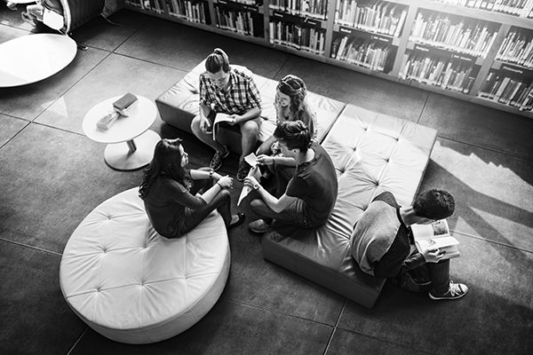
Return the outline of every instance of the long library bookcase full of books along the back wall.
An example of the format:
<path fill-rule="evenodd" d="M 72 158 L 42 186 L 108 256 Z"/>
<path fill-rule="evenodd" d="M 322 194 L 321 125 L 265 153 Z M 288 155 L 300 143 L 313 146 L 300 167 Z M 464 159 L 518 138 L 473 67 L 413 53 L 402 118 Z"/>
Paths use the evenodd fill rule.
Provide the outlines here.
<path fill-rule="evenodd" d="M 533 0 L 126 0 L 126 7 L 533 118 Z"/>

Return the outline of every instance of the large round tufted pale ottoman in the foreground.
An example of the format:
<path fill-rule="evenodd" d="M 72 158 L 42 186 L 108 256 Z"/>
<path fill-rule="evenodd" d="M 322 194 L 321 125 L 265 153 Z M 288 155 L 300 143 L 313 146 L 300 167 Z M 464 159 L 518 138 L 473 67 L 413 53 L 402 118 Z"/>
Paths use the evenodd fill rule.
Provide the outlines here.
<path fill-rule="evenodd" d="M 138 192 L 118 193 L 85 217 L 63 252 L 60 286 L 99 334 L 155 343 L 211 310 L 226 285 L 230 251 L 216 210 L 193 232 L 169 240 L 155 232 Z"/>

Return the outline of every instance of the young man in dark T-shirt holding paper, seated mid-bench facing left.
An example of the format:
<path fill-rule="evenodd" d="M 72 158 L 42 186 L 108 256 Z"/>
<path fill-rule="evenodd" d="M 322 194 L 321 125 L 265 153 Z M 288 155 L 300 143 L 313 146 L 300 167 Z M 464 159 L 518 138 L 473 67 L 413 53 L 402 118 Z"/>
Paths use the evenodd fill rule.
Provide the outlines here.
<path fill-rule="evenodd" d="M 283 156 L 294 159 L 296 170 L 292 176 L 288 176 L 287 170 L 275 170 L 275 178 L 281 180 L 277 197 L 259 185 L 255 177 L 244 179 L 244 185 L 255 189 L 261 197 L 251 201 L 251 210 L 261 217 L 251 222 L 251 231 L 264 233 L 273 219 L 299 228 L 323 225 L 330 218 L 338 193 L 330 155 L 311 139 L 313 133 L 301 121 L 280 123 L 274 137 Z"/>

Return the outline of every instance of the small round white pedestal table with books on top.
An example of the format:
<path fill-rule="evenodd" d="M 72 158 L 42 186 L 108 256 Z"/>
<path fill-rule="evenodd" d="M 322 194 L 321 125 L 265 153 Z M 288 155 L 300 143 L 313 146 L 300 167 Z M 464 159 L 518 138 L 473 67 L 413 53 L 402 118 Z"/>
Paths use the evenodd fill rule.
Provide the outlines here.
<path fill-rule="evenodd" d="M 142 96 L 127 111 L 128 117 L 119 117 L 108 130 L 100 130 L 96 122 L 113 109 L 113 103 L 122 96 L 107 99 L 85 114 L 83 129 L 88 138 L 107 143 L 104 158 L 116 170 L 135 170 L 152 161 L 155 144 L 161 137 L 148 130 L 155 121 L 155 104 Z"/>

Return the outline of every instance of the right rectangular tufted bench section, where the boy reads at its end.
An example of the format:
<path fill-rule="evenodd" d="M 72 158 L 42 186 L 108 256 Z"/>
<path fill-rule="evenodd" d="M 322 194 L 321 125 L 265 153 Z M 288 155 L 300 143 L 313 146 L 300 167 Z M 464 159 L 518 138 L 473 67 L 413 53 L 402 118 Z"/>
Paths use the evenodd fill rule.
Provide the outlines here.
<path fill-rule="evenodd" d="M 362 272 L 351 256 L 354 225 L 383 191 L 394 193 L 401 205 L 410 205 L 436 137 L 435 130 L 420 124 L 346 106 L 322 141 L 338 177 L 330 220 L 309 230 L 274 221 L 262 239 L 263 256 L 372 308 L 385 280 Z"/>

